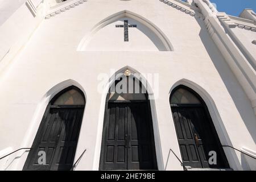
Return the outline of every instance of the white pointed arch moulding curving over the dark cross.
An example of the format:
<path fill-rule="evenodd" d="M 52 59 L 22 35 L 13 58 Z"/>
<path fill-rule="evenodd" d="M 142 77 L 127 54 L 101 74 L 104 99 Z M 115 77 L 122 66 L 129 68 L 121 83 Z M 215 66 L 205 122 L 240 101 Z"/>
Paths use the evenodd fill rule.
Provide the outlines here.
<path fill-rule="evenodd" d="M 90 40 L 98 31 L 100 31 L 102 28 L 104 28 L 108 24 L 113 23 L 116 20 L 120 18 L 125 18 L 125 17 L 134 19 L 139 23 L 142 23 L 150 31 L 152 31 L 152 33 L 156 36 L 156 38 L 159 39 L 159 42 L 163 45 L 163 48 L 161 46 L 161 48 L 159 48 L 159 51 L 174 51 L 174 47 L 172 46 L 170 40 L 167 38 L 164 32 L 160 30 L 159 27 L 157 27 L 154 23 L 150 22 L 150 20 L 144 18 L 143 16 L 128 10 L 119 11 L 118 13 L 110 15 L 107 18 L 101 20 L 99 23 L 97 23 L 89 32 L 89 34 L 85 35 L 84 38 L 81 39 L 79 46 L 77 47 L 77 51 L 85 51 L 86 46 L 89 44 Z"/>

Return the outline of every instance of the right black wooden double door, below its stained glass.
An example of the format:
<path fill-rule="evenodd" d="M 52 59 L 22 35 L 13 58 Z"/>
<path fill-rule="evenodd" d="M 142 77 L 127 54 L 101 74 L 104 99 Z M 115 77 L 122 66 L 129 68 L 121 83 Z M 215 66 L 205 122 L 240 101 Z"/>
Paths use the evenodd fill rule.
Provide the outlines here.
<path fill-rule="evenodd" d="M 228 167 L 213 123 L 201 105 L 172 106 L 177 138 L 185 166 L 192 168 Z M 209 152 L 215 151 L 217 164 L 209 164 Z"/>

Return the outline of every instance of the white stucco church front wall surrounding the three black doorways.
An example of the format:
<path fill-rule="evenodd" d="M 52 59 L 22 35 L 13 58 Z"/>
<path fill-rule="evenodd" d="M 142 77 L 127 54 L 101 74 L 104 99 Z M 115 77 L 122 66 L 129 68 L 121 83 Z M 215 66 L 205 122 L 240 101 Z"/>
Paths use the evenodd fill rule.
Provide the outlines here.
<path fill-rule="evenodd" d="M 116 43 L 112 49 L 111 44 L 104 42 L 102 33 L 100 38 L 95 34 L 92 39 L 94 51 L 77 51 L 97 23 L 123 10 L 154 23 L 170 40 L 174 50 L 153 50 L 147 42 L 145 45 L 139 42 L 127 51 L 127 47 L 122 49 L 123 42 L 119 42 L 119 39 L 123 40 L 122 34 L 117 32 L 118 35 L 113 36 L 113 31 L 120 29 L 123 32 L 122 28 L 107 27 L 100 31 L 108 41 Z M 142 32 L 133 28 L 129 31 L 131 40 L 143 41 Z M 97 50 L 97 43 L 101 42 L 101 49 Z M 103 51 L 104 45 L 108 46 L 108 51 Z M 133 46 L 138 45 L 144 48 L 143 51 L 135 51 Z M 51 94 L 52 88 L 57 92 L 61 86 L 56 85 L 72 79 L 86 95 L 76 158 L 85 148 L 87 151 L 76 169 L 97 170 L 106 98 L 105 93 L 97 91 L 100 82 L 97 77 L 101 73 L 111 77 L 110 69 L 118 71 L 127 65 L 140 73 L 159 74 L 158 97 L 151 101 L 155 104 L 154 131 L 156 142 L 159 140 L 156 143 L 159 169 L 182 169 L 172 154 L 166 164 L 170 148 L 180 158 L 169 104 L 171 89 L 180 80 L 194 87 L 205 99 L 223 145 L 256 151 L 256 122 L 250 101 L 210 39 L 204 22 L 158 0 L 88 1 L 44 20 L 0 80 L 0 148 L 30 147 L 48 104 L 46 94 Z M 188 81 L 184 82 L 184 79 Z M 74 84 L 74 81 L 66 82 L 66 85 L 64 82 L 62 87 Z M 228 148 L 225 152 L 230 167 L 249 168 L 241 154 Z M 19 159 L 13 160 L 15 156 L 10 156 L 8 162 L 2 162 L 2 169 L 22 169 L 27 152 L 19 155 Z"/>

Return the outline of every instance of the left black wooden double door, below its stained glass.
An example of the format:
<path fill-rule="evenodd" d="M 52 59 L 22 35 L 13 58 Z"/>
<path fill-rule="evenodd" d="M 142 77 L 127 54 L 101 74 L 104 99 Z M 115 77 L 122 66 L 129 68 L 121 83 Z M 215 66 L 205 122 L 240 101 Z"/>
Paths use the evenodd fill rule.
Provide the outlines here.
<path fill-rule="evenodd" d="M 23 170 L 69 170 L 75 158 L 84 107 L 51 106 L 40 124 Z M 46 165 L 38 164 L 46 152 Z"/>

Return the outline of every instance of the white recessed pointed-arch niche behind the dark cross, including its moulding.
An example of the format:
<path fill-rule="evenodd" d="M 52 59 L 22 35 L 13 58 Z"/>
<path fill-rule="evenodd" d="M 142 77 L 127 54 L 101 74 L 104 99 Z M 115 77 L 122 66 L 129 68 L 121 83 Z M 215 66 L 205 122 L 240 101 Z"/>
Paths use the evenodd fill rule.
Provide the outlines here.
<path fill-rule="evenodd" d="M 129 42 L 123 39 L 122 25 L 127 20 Z M 97 23 L 82 38 L 77 51 L 173 51 L 167 36 L 154 23 L 131 11 L 120 11 Z"/>

